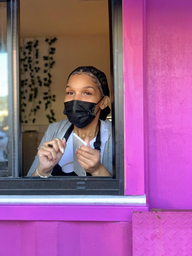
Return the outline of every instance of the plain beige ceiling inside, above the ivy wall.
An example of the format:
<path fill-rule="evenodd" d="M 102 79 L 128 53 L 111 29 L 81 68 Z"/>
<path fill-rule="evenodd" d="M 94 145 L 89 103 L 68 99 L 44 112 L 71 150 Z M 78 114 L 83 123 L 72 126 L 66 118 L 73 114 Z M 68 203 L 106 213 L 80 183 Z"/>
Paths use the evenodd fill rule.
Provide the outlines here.
<path fill-rule="evenodd" d="M 21 37 L 109 34 L 108 0 L 20 0 Z"/>

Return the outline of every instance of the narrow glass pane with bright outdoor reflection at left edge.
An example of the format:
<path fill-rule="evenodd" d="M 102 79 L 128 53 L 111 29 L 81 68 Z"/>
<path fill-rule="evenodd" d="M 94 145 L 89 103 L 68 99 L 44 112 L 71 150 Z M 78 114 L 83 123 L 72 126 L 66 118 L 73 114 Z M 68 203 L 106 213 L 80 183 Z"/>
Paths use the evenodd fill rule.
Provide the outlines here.
<path fill-rule="evenodd" d="M 8 70 L 7 70 L 7 8 L 0 2 L 0 170 L 8 168 Z"/>

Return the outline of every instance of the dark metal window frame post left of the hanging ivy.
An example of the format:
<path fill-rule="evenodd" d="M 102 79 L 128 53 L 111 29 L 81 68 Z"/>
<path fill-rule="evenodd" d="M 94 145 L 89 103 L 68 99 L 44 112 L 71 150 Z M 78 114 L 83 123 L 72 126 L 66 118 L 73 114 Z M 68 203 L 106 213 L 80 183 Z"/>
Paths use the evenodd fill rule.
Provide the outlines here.
<path fill-rule="evenodd" d="M 19 1 L 7 1 L 8 53 L 8 176 L 19 177 L 21 172 L 21 133 L 19 121 Z"/>

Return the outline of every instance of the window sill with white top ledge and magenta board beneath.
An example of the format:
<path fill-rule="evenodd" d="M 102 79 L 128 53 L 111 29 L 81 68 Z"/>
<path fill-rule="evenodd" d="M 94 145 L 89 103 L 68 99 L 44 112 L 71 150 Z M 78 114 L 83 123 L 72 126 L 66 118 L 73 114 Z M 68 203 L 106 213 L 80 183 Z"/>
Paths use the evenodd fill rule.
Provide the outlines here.
<path fill-rule="evenodd" d="M 133 203 L 134 202 L 134 203 Z M 143 196 L 1 196 L 0 221 L 132 221 Z"/>

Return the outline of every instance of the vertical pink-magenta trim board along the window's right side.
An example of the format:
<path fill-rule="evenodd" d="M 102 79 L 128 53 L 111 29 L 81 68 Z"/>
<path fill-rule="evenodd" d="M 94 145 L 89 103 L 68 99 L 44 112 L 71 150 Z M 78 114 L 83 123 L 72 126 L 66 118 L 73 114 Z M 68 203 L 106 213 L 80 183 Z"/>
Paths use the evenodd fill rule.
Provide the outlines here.
<path fill-rule="evenodd" d="M 125 195 L 144 195 L 144 1 L 123 1 Z"/>

